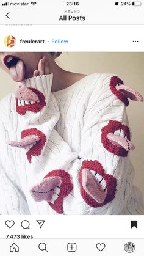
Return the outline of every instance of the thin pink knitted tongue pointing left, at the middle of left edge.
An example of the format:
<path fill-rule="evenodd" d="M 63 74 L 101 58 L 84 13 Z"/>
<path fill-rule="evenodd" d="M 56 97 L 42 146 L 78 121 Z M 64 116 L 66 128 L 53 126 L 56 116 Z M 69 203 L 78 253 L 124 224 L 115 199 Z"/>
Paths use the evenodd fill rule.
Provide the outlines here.
<path fill-rule="evenodd" d="M 8 144 L 13 147 L 26 148 L 28 145 L 37 141 L 40 141 L 40 138 L 37 135 L 28 135 L 20 141 L 10 141 Z"/>

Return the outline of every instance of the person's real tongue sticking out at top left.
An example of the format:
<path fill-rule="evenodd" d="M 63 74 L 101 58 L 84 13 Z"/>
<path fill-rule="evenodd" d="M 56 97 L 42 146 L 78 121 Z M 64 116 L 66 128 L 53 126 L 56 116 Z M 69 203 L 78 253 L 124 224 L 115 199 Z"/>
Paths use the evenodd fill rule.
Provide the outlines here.
<path fill-rule="evenodd" d="M 15 82 L 21 82 L 24 80 L 24 76 L 26 73 L 26 67 L 24 65 L 23 60 L 18 60 L 16 65 L 10 67 L 10 76 Z"/>

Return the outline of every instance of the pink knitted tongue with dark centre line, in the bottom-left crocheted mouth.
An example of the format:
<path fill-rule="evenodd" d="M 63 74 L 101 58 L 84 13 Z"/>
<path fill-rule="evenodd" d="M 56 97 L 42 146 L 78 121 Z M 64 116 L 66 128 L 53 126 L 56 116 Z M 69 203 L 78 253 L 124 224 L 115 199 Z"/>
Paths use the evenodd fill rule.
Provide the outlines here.
<path fill-rule="evenodd" d="M 56 176 L 45 178 L 43 181 L 38 183 L 38 185 L 31 188 L 31 196 L 37 202 L 49 202 L 54 195 L 54 189 L 56 189 L 56 186 L 59 184 L 60 180 L 61 178 Z"/>

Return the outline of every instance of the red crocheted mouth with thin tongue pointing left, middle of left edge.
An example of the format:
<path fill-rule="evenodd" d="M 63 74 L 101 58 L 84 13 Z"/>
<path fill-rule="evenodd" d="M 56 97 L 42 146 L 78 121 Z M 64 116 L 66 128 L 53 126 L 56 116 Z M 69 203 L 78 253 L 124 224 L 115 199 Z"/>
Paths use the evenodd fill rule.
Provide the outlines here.
<path fill-rule="evenodd" d="M 36 128 L 27 129 L 21 132 L 20 141 L 10 141 L 8 144 L 13 147 L 26 149 L 26 155 L 29 163 L 32 156 L 39 156 L 46 142 L 46 136 Z"/>

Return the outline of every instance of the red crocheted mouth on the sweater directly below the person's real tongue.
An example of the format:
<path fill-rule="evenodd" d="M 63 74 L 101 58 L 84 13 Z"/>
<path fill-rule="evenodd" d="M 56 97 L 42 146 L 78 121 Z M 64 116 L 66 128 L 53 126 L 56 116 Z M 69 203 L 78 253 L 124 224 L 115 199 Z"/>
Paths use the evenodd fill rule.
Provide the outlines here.
<path fill-rule="evenodd" d="M 37 113 L 46 105 L 43 93 L 35 88 L 28 88 L 23 83 L 19 83 L 15 96 L 16 112 L 20 115 L 25 115 L 26 111 Z"/>

